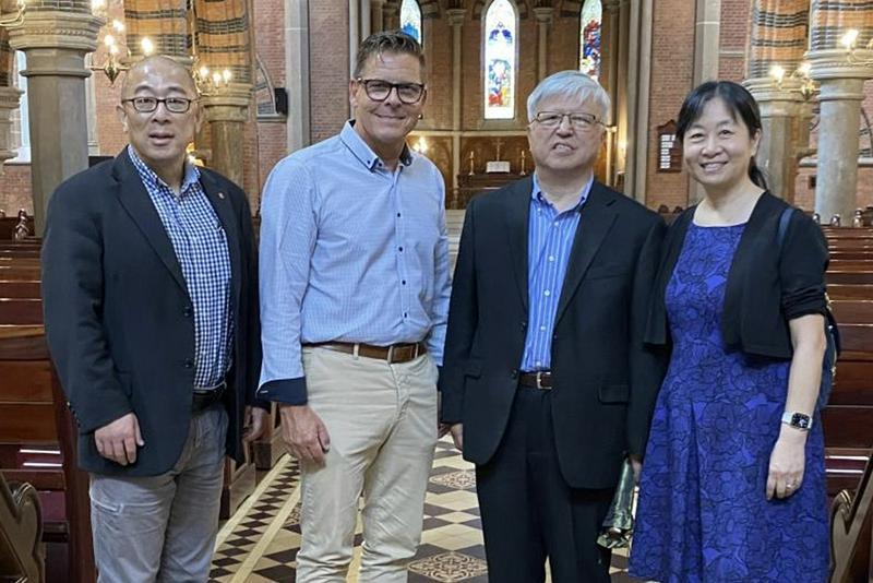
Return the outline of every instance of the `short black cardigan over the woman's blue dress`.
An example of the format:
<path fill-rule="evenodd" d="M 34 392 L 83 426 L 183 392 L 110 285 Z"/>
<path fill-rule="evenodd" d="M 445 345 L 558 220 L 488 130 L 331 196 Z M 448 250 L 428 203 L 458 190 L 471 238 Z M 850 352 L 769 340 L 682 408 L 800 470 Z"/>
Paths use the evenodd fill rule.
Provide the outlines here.
<path fill-rule="evenodd" d="M 818 225 L 798 211 L 791 216 L 780 247 L 779 216 L 787 206 L 768 192 L 761 195 L 728 272 L 721 335 L 728 347 L 750 355 L 790 359 L 793 348 L 788 320 L 824 314 L 827 306 L 827 242 Z M 670 344 L 665 295 L 695 209 L 677 217 L 663 241 L 646 324 L 648 344 Z"/>

